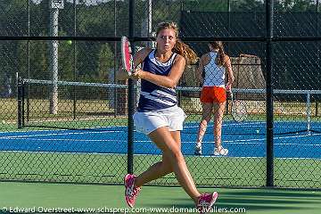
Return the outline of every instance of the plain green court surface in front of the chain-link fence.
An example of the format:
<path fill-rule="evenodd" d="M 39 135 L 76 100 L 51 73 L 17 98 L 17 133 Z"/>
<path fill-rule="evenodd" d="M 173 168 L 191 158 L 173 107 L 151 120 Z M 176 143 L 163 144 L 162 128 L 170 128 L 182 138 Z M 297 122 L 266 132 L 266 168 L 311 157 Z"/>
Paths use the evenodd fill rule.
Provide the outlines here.
<path fill-rule="evenodd" d="M 5 210 L 28 208 L 29 213 L 33 212 L 32 209 L 39 213 L 45 212 L 45 209 L 49 208 L 52 210 L 91 208 L 95 213 L 98 210 L 118 209 L 117 213 L 122 213 L 127 208 L 123 199 L 122 185 L 1 182 L 0 189 L 0 207 L 3 213 L 8 213 Z M 202 192 L 212 191 L 211 188 L 201 188 L 200 190 Z M 218 209 L 245 209 L 245 213 L 278 214 L 307 212 L 317 214 L 321 211 L 321 191 L 231 188 L 218 188 L 216 191 L 219 196 L 216 210 L 213 213 L 219 213 Z M 137 213 L 173 213 L 170 212 L 170 209 L 174 209 L 173 206 L 176 210 L 192 210 L 193 202 L 182 188 L 177 186 L 144 186 L 136 201 Z M 139 209 L 141 210 L 139 211 Z M 144 211 L 143 209 L 152 209 L 152 211 Z M 161 211 L 161 209 L 168 209 L 168 212 Z M 50 210 L 47 210 L 46 213 L 48 212 Z M 85 212 L 90 211 L 85 210 Z M 184 213 L 189 212 L 185 211 Z"/>

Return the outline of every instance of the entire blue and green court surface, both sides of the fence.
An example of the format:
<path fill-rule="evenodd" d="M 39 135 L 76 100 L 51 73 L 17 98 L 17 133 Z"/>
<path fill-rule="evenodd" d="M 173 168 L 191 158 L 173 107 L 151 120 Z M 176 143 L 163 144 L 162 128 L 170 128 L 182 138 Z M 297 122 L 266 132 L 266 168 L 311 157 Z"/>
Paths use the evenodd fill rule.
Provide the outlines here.
<path fill-rule="evenodd" d="M 228 117 L 226 118 L 228 119 Z M 84 123 L 90 124 L 89 121 Z M 66 125 L 66 122 L 63 121 L 63 124 Z M 85 124 L 82 125 L 85 126 Z M 200 171 L 203 172 L 200 177 L 196 178 L 197 183 L 202 185 L 243 185 L 251 178 L 255 180 L 252 182 L 254 185 L 264 184 L 265 175 L 260 174 L 264 171 L 262 161 L 266 157 L 265 122 L 248 120 L 243 123 L 235 123 L 232 120 L 225 121 L 223 144 L 229 149 L 229 153 L 227 157 L 219 158 L 212 155 L 214 148 L 212 124 L 209 125 L 208 134 L 204 136 L 204 155 L 202 157 L 193 155 L 197 128 L 198 123 L 187 119 L 182 132 L 182 148 L 186 161 L 189 165 L 193 163 L 190 168 L 191 172 L 198 175 Z M 307 175 L 309 177 L 311 174 L 304 166 L 312 166 L 321 161 L 319 156 L 321 153 L 321 134 L 317 132 L 317 130 L 320 130 L 321 124 L 313 121 L 309 124 L 310 132 L 307 131 L 307 128 L 307 122 L 302 121 L 276 122 L 275 132 L 278 133 L 274 137 L 275 163 L 278 166 L 275 172 L 276 177 L 283 177 L 287 170 L 300 171 L 297 180 L 276 180 L 276 183 L 304 186 L 307 182 Z M 1 160 L 4 163 L 2 168 L 7 163 L 15 163 L 15 169 L 11 169 L 11 177 L 16 177 L 17 175 L 14 175 L 14 173 L 18 172 L 21 177 L 33 180 L 41 177 L 41 179 L 65 179 L 67 181 L 70 179 L 71 182 L 86 183 L 96 181 L 95 178 L 101 177 L 103 172 L 104 177 L 100 182 L 119 183 L 122 177 L 114 169 L 123 170 L 122 174 L 126 173 L 126 169 L 122 169 L 123 166 L 127 165 L 128 128 L 125 126 L 86 129 L 25 129 L 2 132 L 0 136 L 0 148 L 3 151 L 1 152 Z M 298 133 L 295 133 L 296 131 Z M 302 147 L 304 148 L 302 149 Z M 141 133 L 135 132 L 134 148 L 136 173 L 161 158 L 158 155 L 160 151 Z M 204 164 L 209 158 L 212 161 Z M 151 162 L 152 159 L 154 161 Z M 226 162 L 229 164 L 226 165 Z M 209 177 L 212 165 L 218 170 L 218 176 Z M 32 166 L 32 169 L 27 166 Z M 237 166 L 250 169 L 254 173 L 249 174 L 238 170 Z M 2 171 L 8 170 L 3 169 Z M 319 174 L 318 171 L 312 173 L 312 175 Z M 4 174 L 2 176 L 4 177 Z M 228 178 L 226 182 L 224 177 L 232 177 L 234 181 Z M 173 175 L 166 178 L 170 184 L 176 184 Z M 315 187 L 321 185 L 317 177 L 312 182 L 314 182 L 313 186 Z M 124 213 L 124 210 L 128 209 L 123 201 L 122 185 L 2 182 L 0 187 L 2 189 L 0 206 L 6 209 L 69 208 L 81 210 L 84 213 L 91 213 L 98 209 L 107 211 L 114 209 L 116 210 L 115 213 Z M 231 211 L 227 213 L 232 213 L 232 211 L 243 213 L 246 210 L 246 213 L 285 214 L 291 212 L 300 214 L 309 211 L 311 214 L 317 214 L 321 210 L 319 203 L 321 194 L 315 190 L 215 189 L 220 195 L 216 203 L 216 209 Z M 213 187 L 201 188 L 200 190 L 209 192 L 213 190 Z M 51 195 L 50 200 L 46 199 L 48 193 Z M 188 196 L 177 186 L 144 186 L 136 203 L 136 209 L 150 209 L 137 211 L 139 213 L 174 213 L 170 210 L 174 208 L 176 209 L 175 213 L 187 213 L 186 211 L 180 212 L 179 209 L 193 209 L 193 204 Z"/>

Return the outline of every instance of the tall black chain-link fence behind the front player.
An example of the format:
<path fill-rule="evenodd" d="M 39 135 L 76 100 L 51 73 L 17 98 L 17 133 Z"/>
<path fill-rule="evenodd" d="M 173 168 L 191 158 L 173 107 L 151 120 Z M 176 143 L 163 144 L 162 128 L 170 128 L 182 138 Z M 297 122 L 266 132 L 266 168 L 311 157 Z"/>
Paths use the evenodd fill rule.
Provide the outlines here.
<path fill-rule="evenodd" d="M 265 186 L 272 164 L 273 185 L 320 188 L 319 1 L 274 1 L 273 162 L 267 160 L 265 1 L 53 2 L 0 3 L 1 180 L 121 184 L 131 168 L 139 174 L 161 161 L 147 136 L 128 134 L 128 90 L 135 90 L 129 102 L 136 105 L 139 83 L 128 88 L 115 77 L 119 37 L 129 36 L 138 51 L 152 44 L 157 23 L 176 21 L 181 39 L 200 57 L 210 51 L 210 41 L 224 41 L 234 98 L 245 110 L 242 122 L 235 121 L 227 97 L 222 124 L 227 155 L 213 153 L 213 120 L 202 155 L 195 155 L 202 84 L 198 64 L 186 66 L 177 88 L 187 115 L 182 151 L 196 184 Z M 152 184 L 177 180 L 169 174 Z"/>

